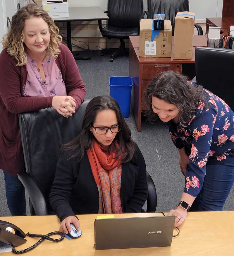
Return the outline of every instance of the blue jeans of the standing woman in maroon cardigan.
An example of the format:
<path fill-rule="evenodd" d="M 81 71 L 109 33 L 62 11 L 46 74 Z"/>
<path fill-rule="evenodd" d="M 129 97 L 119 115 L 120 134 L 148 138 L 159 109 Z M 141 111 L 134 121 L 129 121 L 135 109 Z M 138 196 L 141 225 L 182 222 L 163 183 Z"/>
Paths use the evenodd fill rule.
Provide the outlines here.
<path fill-rule="evenodd" d="M 25 190 L 21 181 L 4 172 L 6 201 L 12 216 L 26 216 Z"/>

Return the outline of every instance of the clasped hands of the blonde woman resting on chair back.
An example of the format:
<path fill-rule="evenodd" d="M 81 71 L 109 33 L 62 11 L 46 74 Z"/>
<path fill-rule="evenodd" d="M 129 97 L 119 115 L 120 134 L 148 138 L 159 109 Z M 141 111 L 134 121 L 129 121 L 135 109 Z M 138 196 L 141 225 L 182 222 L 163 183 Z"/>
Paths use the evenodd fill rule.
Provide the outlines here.
<path fill-rule="evenodd" d="M 75 113 L 76 103 L 71 96 L 54 96 L 52 99 L 52 107 L 56 109 L 60 115 L 68 118 Z"/>

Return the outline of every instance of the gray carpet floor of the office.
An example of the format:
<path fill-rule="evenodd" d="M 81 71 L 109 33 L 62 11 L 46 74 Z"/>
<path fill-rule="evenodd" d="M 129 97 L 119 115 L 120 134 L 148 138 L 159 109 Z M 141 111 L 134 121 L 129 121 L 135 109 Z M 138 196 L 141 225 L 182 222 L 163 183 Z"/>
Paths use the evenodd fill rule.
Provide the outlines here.
<path fill-rule="evenodd" d="M 114 62 L 109 62 L 109 55 L 101 57 L 100 52 L 81 52 L 80 56 L 92 57 L 90 61 L 76 61 L 86 85 L 86 98 L 109 95 L 109 77 L 129 75 L 128 57 L 118 57 Z M 147 171 L 154 180 L 158 197 L 156 211 L 166 212 L 175 208 L 183 191 L 184 178 L 179 169 L 178 150 L 171 141 L 168 129 L 160 120 L 154 124 L 143 120 L 142 130 L 138 132 L 132 112 L 125 120 L 132 131 L 133 139 L 142 151 Z M 0 192 L 0 216 L 10 216 L 1 171 Z M 27 192 L 26 198 L 28 202 Z M 234 186 L 223 210 L 234 210 Z M 30 215 L 28 203 L 27 214 Z"/>

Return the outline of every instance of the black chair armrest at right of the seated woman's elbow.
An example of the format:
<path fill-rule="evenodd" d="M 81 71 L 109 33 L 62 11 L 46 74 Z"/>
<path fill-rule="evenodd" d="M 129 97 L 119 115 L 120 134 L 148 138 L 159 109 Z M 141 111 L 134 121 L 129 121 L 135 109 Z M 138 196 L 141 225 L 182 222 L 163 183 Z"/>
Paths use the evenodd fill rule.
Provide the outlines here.
<path fill-rule="evenodd" d="M 147 209 L 146 212 L 155 212 L 157 207 L 157 193 L 154 185 L 154 181 L 152 180 L 149 173 L 146 173 L 147 176 L 147 184 L 148 184 L 148 198 L 147 198 Z"/>

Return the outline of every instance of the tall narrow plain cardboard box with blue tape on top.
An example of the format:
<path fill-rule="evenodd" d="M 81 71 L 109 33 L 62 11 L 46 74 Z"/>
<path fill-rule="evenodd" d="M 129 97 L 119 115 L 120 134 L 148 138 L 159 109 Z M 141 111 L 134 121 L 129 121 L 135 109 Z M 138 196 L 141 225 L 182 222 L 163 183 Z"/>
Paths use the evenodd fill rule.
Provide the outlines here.
<path fill-rule="evenodd" d="M 195 13 L 178 12 L 175 18 L 173 59 L 192 59 Z"/>

